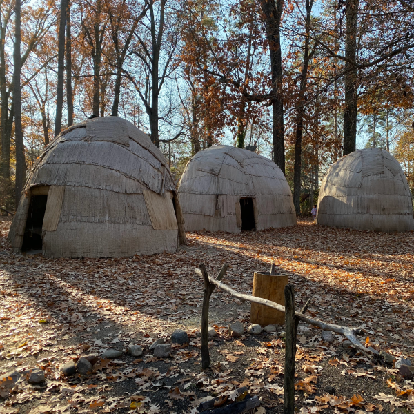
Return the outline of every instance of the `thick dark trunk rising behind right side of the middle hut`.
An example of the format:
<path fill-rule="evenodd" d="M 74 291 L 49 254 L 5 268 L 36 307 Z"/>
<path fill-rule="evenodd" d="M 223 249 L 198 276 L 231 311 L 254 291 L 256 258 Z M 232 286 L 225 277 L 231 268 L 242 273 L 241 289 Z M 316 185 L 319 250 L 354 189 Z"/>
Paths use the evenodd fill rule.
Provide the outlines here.
<path fill-rule="evenodd" d="M 273 161 L 285 173 L 284 120 L 282 90 L 282 50 L 280 47 L 280 21 L 284 0 L 261 0 L 265 16 L 266 39 L 270 49 L 272 74 Z"/>

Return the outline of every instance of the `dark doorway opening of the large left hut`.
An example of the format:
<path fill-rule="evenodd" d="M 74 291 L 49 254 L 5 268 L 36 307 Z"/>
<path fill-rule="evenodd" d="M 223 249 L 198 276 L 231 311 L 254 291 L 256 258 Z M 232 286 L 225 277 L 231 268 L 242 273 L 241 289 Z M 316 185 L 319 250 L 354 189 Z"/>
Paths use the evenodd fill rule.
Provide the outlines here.
<path fill-rule="evenodd" d="M 41 228 L 43 227 L 43 218 L 45 217 L 47 203 L 47 195 L 32 195 L 21 251 L 27 252 L 29 250 L 42 249 Z"/>

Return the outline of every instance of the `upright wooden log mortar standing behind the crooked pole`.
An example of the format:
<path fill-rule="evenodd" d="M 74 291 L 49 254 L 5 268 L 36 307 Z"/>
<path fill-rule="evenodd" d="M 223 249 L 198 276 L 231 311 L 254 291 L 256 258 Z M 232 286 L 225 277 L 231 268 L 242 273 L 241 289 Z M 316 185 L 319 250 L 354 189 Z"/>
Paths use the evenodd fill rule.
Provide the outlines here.
<path fill-rule="evenodd" d="M 288 273 L 269 275 L 268 273 L 255 272 L 253 277 L 253 296 L 268 299 L 284 306 L 284 287 L 288 284 Z M 268 306 L 250 305 L 250 324 L 283 325 L 285 313 L 269 308 Z"/>

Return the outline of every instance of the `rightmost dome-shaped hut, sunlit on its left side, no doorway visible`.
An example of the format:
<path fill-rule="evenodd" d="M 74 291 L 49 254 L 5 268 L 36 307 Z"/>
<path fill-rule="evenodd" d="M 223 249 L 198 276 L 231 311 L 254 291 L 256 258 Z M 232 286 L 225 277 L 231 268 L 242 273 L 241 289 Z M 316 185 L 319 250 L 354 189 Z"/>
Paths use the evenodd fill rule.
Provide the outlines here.
<path fill-rule="evenodd" d="M 317 223 L 382 232 L 414 229 L 410 188 L 398 161 L 385 150 L 348 154 L 322 180 Z"/>

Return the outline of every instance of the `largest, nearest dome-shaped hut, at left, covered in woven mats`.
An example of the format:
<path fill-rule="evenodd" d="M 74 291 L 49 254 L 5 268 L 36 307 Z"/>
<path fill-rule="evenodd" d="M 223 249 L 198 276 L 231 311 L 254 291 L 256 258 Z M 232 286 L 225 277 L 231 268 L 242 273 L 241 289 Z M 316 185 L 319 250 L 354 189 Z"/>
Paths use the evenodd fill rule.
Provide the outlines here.
<path fill-rule="evenodd" d="M 9 240 L 46 257 L 176 251 L 185 233 L 166 159 L 125 119 L 68 128 L 37 159 Z"/>

